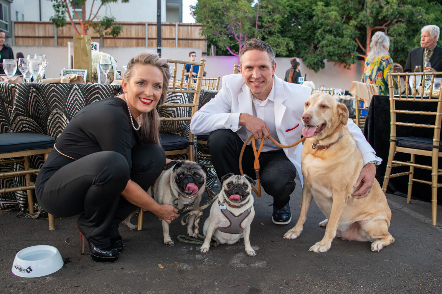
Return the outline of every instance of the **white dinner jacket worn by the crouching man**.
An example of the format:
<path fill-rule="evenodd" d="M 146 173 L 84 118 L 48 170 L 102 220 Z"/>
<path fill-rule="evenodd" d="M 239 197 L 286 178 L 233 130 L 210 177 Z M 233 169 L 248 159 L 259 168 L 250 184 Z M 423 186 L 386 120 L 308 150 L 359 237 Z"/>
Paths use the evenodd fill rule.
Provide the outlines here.
<path fill-rule="evenodd" d="M 284 82 L 276 74 L 273 77 L 274 117 L 278 141 L 282 145 L 291 145 L 301 139 L 301 130 L 304 127 L 301 121 L 304 102 L 310 96 L 312 89 L 299 84 Z M 210 132 L 218 129 L 230 129 L 245 141 L 251 133 L 245 127 L 238 126 L 241 113 L 253 115 L 250 89 L 245 84 L 241 74 L 226 75 L 222 79 L 220 92 L 193 115 L 191 131 L 198 135 L 210 134 Z M 230 115 L 237 117 L 236 125 L 226 126 Z M 380 164 L 381 158 L 375 155 L 374 149 L 366 141 L 361 129 L 351 119 L 349 119 L 347 127 L 356 139 L 358 149 L 361 150 L 364 158 L 364 164 L 372 160 L 377 160 Z M 248 144 L 250 143 L 251 141 L 248 142 Z M 301 183 L 303 183 L 301 171 L 302 144 L 283 150 L 295 166 Z"/>

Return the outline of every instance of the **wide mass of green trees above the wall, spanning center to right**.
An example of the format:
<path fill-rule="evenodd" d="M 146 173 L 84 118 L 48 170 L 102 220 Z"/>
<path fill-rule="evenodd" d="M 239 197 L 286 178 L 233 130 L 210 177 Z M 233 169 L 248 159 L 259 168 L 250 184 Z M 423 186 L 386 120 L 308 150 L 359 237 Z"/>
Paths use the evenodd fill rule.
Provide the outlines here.
<path fill-rule="evenodd" d="M 378 30 L 390 37 L 393 60 L 404 65 L 408 51 L 420 46 L 420 29 L 442 24 L 438 0 L 199 0 L 193 15 L 218 49 L 236 53 L 256 36 L 277 56 L 300 57 L 315 71 L 324 68 L 324 60 L 350 67 L 364 59 Z M 232 26 L 243 39 L 235 38 Z"/>

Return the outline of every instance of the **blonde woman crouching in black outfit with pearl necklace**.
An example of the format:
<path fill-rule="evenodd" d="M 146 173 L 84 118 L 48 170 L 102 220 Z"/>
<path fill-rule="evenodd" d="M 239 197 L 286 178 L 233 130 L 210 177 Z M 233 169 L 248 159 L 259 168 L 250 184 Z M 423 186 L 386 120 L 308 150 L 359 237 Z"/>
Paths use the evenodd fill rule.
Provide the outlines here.
<path fill-rule="evenodd" d="M 80 110 L 38 172 L 38 203 L 55 216 L 82 213 L 77 228 L 94 261 L 118 260 L 124 245 L 118 226 L 135 206 L 168 223 L 179 216 L 146 193 L 166 163 L 155 107 L 166 99 L 169 78 L 166 60 L 138 54 L 127 65 L 124 94 Z"/>

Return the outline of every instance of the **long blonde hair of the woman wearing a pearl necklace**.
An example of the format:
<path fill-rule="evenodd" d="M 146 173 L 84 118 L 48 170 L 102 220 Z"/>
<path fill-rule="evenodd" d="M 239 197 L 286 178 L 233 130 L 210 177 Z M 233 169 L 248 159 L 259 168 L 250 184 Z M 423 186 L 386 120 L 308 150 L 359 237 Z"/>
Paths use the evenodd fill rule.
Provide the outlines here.
<path fill-rule="evenodd" d="M 133 57 L 127 63 L 127 71 L 124 74 L 124 79 L 128 82 L 133 75 L 133 67 L 136 64 L 152 65 L 158 67 L 163 74 L 163 87 L 161 89 L 161 97 L 157 106 L 164 104 L 168 94 L 170 71 L 169 64 L 164 58 L 160 58 L 158 53 L 152 51 L 143 51 L 137 56 Z M 141 114 L 141 138 L 144 143 L 154 143 L 160 145 L 160 115 L 156 108 L 150 112 L 143 112 Z"/>

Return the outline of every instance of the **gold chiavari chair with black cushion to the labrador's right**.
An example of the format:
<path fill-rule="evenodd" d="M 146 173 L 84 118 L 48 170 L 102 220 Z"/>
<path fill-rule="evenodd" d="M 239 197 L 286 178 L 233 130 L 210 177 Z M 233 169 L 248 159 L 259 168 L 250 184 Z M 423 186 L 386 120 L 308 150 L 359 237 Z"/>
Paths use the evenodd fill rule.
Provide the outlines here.
<path fill-rule="evenodd" d="M 408 175 L 407 203 L 410 203 L 413 182 L 431 185 L 431 223 L 433 226 L 436 225 L 437 190 L 442 187 L 442 184 L 438 183 L 438 176 L 442 174 L 442 169 L 438 168 L 438 160 L 442 156 L 439 151 L 442 147 L 440 145 L 442 93 L 439 90 L 439 93 L 434 95 L 437 90 L 433 91 L 433 83 L 434 77 L 441 74 L 442 72 L 393 73 L 392 71 L 387 74 L 390 96 L 390 150 L 382 190 L 386 192 L 389 179 Z M 410 76 L 414 79 L 411 85 L 412 96 L 409 96 L 408 89 Z M 395 79 L 399 86 L 399 95 L 396 96 L 394 95 L 394 77 L 397 77 Z M 401 94 L 400 77 L 405 79 L 405 96 Z M 431 81 L 429 91 L 425 91 L 424 88 L 425 78 Z M 417 94 L 418 80 L 422 81 L 419 95 Z M 406 130 L 403 130 L 404 128 Z M 414 128 L 419 129 L 413 130 Z M 418 134 L 418 136 L 412 137 L 411 134 Z M 425 137 L 426 134 L 428 137 Z M 394 160 L 400 153 L 409 154 L 410 160 Z M 416 155 L 419 156 L 419 162 L 424 159 L 420 156 L 431 157 L 431 165 L 416 163 Z M 402 168 L 400 172 L 392 174 L 392 168 L 401 166 L 409 167 L 408 171 Z M 431 171 L 431 181 L 415 179 L 415 168 Z"/>

